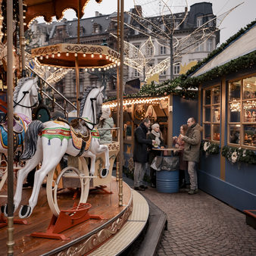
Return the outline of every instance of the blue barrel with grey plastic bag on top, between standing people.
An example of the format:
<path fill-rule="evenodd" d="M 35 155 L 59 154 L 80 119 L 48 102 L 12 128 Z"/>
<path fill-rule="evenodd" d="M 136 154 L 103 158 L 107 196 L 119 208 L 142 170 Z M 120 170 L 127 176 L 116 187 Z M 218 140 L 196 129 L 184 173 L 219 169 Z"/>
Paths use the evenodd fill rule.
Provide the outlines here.
<path fill-rule="evenodd" d="M 179 157 L 156 157 L 157 190 L 162 193 L 179 192 Z"/>

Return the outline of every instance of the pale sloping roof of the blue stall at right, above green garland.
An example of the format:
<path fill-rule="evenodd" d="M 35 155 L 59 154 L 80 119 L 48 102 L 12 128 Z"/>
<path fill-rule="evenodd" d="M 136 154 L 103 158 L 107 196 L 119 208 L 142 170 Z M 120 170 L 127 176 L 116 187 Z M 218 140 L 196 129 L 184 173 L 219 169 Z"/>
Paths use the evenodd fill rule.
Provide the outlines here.
<path fill-rule="evenodd" d="M 230 42 L 226 48 L 223 49 L 218 55 L 215 55 L 203 66 L 199 67 L 194 76 L 200 76 L 208 71 L 212 70 L 214 67 L 221 66 L 228 63 L 236 58 L 247 55 L 248 53 L 254 52 L 256 50 L 256 24 L 251 27 L 249 30 L 246 30 L 241 36 L 235 39 L 233 42 Z"/>

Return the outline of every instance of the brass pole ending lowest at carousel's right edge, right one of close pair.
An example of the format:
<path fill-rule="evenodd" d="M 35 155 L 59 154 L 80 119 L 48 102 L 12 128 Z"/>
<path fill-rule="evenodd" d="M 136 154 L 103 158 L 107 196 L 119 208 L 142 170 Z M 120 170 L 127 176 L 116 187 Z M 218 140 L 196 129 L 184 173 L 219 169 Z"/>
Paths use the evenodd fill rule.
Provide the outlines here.
<path fill-rule="evenodd" d="M 123 205 L 123 0 L 120 0 L 120 173 L 119 206 Z"/>

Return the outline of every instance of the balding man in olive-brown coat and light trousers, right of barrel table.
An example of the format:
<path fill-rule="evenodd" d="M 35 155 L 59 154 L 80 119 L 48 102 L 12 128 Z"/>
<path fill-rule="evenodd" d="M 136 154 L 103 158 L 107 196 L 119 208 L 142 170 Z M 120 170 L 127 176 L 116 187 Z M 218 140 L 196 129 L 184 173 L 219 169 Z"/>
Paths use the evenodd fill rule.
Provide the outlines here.
<path fill-rule="evenodd" d="M 201 126 L 196 123 L 194 117 L 190 117 L 187 121 L 189 126 L 186 136 L 180 134 L 181 139 L 185 142 L 183 160 L 188 161 L 188 172 L 190 180 L 189 195 L 198 192 L 198 177 L 195 164 L 199 162 L 199 151 L 201 144 Z"/>

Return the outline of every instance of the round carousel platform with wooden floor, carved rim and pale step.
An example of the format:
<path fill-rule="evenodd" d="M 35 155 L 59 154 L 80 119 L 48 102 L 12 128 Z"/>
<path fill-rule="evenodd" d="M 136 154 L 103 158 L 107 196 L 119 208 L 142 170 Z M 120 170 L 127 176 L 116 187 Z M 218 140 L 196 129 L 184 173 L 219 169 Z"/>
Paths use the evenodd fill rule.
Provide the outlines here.
<path fill-rule="evenodd" d="M 123 206 L 118 206 L 118 183 L 113 177 L 107 189 L 113 194 L 89 194 L 87 202 L 92 204 L 89 214 L 100 215 L 101 220 L 89 219 L 67 229 L 61 234 L 67 240 L 45 239 L 30 236 L 45 232 L 52 218 L 45 188 L 41 188 L 36 208 L 28 225 L 14 224 L 14 255 L 116 255 L 124 251 L 139 236 L 148 220 L 149 208 L 145 198 L 123 183 Z M 23 201 L 27 204 L 32 189 L 23 189 Z M 60 192 L 60 200 L 71 191 Z M 70 195 L 69 195 L 70 197 Z M 72 198 L 72 195 L 71 195 Z M 0 204 L 5 204 L 0 198 Z M 65 202 L 66 204 L 66 202 Z M 16 214 L 14 215 L 16 218 Z M 7 227 L 0 229 L 0 251 L 7 254 Z"/>

